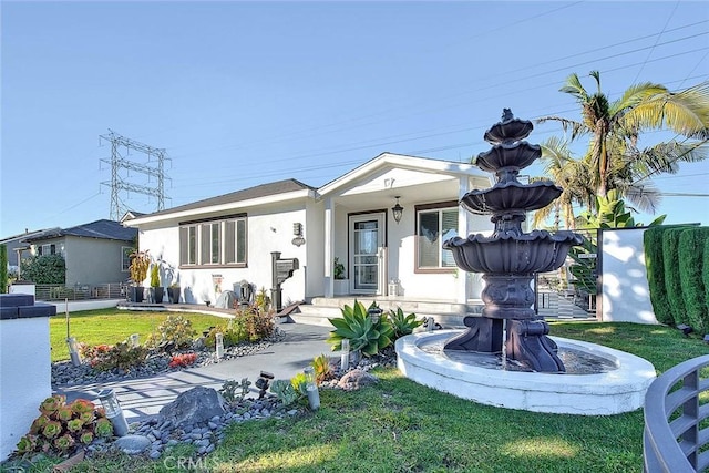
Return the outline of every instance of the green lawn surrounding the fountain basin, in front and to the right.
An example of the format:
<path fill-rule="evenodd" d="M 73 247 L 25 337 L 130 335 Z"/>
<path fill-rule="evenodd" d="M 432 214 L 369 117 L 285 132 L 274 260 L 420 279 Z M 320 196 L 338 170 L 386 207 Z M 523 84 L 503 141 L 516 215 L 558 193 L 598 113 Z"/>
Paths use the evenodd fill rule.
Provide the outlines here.
<path fill-rule="evenodd" d="M 658 372 L 709 352 L 699 338 L 634 323 L 554 322 L 552 333 L 648 359 Z M 321 409 L 233 424 L 212 454 L 179 445 L 158 461 L 106 453 L 72 472 L 640 472 L 643 412 L 542 414 L 475 404 L 395 369 L 354 392 L 321 391 Z M 32 470 L 28 470 L 32 471 Z M 48 471 L 38 469 L 33 471 Z"/>

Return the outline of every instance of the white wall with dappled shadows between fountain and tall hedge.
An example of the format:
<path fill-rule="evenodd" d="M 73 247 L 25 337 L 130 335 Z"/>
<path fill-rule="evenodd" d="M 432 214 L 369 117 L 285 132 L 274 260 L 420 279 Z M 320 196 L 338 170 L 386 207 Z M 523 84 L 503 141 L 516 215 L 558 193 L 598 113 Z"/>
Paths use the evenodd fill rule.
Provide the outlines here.
<path fill-rule="evenodd" d="M 657 323 L 645 267 L 645 228 L 603 232 L 605 322 Z"/>

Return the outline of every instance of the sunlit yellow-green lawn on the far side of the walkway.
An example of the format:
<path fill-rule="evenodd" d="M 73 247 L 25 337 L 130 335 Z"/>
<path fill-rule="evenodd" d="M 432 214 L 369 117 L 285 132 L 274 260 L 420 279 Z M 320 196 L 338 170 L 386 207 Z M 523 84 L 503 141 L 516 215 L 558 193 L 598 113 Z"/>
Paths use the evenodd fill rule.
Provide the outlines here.
<path fill-rule="evenodd" d="M 202 333 L 217 323 L 225 323 L 225 319 L 194 312 L 152 312 L 127 311 L 117 309 L 85 310 L 69 315 L 69 327 L 72 337 L 88 345 L 114 345 L 125 340 L 132 333 L 140 333 L 141 342 L 148 335 L 157 330 L 168 315 L 183 316 L 192 321 L 192 327 Z M 66 317 L 56 315 L 49 321 L 50 346 L 52 361 L 69 360 L 66 347 Z"/>

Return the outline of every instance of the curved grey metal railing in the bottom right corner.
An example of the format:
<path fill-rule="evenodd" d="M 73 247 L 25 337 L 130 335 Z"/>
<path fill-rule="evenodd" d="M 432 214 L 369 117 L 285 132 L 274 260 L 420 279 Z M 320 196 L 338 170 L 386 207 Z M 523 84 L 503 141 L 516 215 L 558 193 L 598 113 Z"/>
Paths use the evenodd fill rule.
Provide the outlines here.
<path fill-rule="evenodd" d="M 709 426 L 702 422 L 709 418 L 709 403 L 699 401 L 709 390 L 709 379 L 700 377 L 707 366 L 709 354 L 685 361 L 648 388 L 643 433 L 645 472 L 700 472 L 709 466 L 709 451 L 705 449 Z M 676 385 L 678 389 L 672 390 Z"/>

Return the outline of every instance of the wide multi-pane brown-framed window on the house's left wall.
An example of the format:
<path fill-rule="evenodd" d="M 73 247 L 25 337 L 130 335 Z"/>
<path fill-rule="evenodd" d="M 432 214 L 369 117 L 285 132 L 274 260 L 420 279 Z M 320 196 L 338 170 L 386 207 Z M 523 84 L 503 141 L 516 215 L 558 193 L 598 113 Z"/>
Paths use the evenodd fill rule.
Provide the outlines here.
<path fill-rule="evenodd" d="M 246 217 L 183 224 L 181 266 L 245 266 Z"/>

